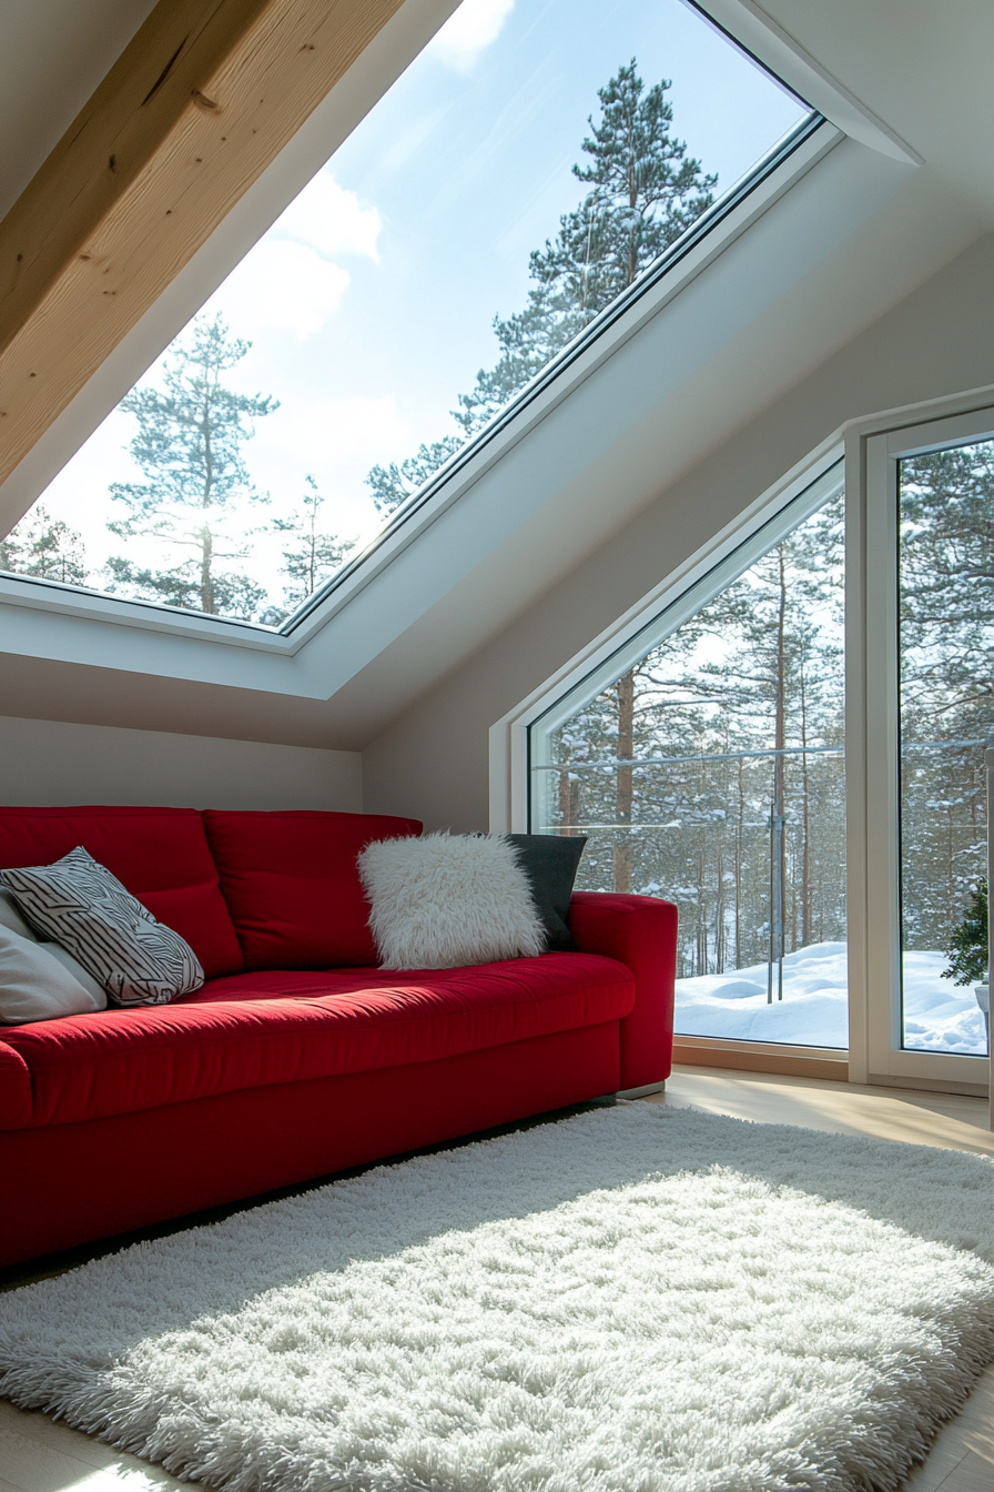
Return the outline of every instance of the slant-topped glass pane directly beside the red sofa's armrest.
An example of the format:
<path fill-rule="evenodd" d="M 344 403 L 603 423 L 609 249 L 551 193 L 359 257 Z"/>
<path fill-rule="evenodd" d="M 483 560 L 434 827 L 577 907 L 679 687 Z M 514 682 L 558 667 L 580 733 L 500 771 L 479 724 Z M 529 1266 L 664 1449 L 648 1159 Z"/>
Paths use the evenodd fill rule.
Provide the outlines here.
<path fill-rule="evenodd" d="M 848 1044 L 843 495 L 553 731 L 538 833 L 680 909 L 686 1035 Z"/>

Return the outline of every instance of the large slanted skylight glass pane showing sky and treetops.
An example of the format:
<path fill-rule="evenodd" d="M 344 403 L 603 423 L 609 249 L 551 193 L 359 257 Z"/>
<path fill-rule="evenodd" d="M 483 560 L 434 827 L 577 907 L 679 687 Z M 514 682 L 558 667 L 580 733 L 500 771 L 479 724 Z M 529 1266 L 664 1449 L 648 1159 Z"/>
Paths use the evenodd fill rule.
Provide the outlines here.
<path fill-rule="evenodd" d="M 806 115 L 681 0 L 463 0 L 0 565 L 285 624 Z"/>

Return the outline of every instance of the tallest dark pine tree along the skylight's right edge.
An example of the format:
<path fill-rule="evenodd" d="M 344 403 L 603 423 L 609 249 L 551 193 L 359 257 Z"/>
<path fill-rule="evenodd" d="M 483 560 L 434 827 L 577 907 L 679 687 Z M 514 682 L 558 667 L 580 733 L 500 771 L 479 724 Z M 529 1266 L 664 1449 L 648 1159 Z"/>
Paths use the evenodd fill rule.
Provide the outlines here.
<path fill-rule="evenodd" d="M 647 90 L 632 58 L 598 90 L 601 118 L 589 118 L 583 142 L 589 161 L 572 167 L 592 189 L 531 255 L 525 309 L 495 318 L 498 361 L 453 410 L 462 436 L 422 445 L 399 467 L 374 467 L 367 477 L 382 513 L 395 512 L 711 206 L 717 176 L 705 176 L 671 134 L 669 87 L 663 79 Z"/>

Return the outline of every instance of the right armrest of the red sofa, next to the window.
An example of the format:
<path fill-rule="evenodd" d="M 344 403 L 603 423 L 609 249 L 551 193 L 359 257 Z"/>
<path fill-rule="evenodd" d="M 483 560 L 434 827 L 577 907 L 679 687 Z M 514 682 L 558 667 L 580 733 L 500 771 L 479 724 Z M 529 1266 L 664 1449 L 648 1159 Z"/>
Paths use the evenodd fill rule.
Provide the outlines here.
<path fill-rule="evenodd" d="M 581 953 L 605 953 L 635 974 L 635 1009 L 621 1021 L 621 1089 L 669 1077 L 674 1061 L 677 907 L 659 897 L 575 891 L 569 928 Z"/>

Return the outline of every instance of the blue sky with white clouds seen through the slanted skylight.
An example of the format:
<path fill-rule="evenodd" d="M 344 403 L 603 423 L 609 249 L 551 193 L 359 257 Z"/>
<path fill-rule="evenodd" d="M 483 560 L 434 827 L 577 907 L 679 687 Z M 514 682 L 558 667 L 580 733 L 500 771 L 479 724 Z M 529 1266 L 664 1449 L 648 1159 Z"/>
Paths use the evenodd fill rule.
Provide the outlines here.
<path fill-rule="evenodd" d="M 647 85 L 672 79 L 674 133 L 718 191 L 803 113 L 681 0 L 463 0 L 207 303 L 253 343 L 231 382 L 280 400 L 246 446 L 271 500 L 246 524 L 289 512 L 313 473 L 329 527 L 377 531 L 365 473 L 455 431 L 458 394 L 496 361 L 493 315 L 522 307 L 531 249 L 584 195 L 571 166 L 596 91 L 632 57 Z M 122 552 L 107 486 L 140 480 L 133 431 L 113 412 L 43 497 L 94 570 Z M 246 542 L 241 567 L 279 594 L 279 546 Z"/>

